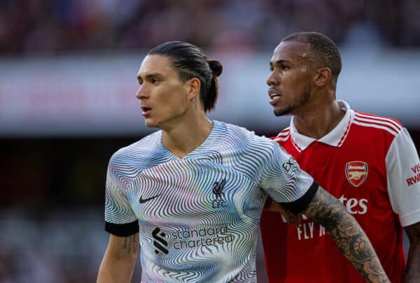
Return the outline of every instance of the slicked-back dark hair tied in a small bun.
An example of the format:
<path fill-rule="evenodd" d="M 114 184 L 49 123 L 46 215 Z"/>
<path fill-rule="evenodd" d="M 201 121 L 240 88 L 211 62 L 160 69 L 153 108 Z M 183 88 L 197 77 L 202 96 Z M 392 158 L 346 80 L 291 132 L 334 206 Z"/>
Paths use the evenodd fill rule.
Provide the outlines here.
<path fill-rule="evenodd" d="M 204 52 L 197 46 L 184 41 L 169 41 L 162 43 L 148 55 L 162 55 L 170 58 L 172 66 L 178 71 L 181 82 L 197 78 L 201 82 L 200 100 L 204 110 L 214 109 L 218 96 L 218 80 L 223 66 L 220 61 L 207 59 Z"/>

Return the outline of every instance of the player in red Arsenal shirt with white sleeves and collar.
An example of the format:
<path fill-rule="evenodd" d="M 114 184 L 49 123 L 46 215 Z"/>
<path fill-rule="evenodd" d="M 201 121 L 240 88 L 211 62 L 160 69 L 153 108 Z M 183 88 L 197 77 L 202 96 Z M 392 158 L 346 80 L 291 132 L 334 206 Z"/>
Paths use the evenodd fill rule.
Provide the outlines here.
<path fill-rule="evenodd" d="M 357 219 L 391 282 L 420 282 L 420 162 L 407 130 L 336 100 L 342 61 L 323 34 L 286 36 L 269 64 L 274 115 L 292 115 L 273 139 Z M 261 234 L 270 283 L 364 282 L 323 224 L 275 202 L 269 208 Z M 402 227 L 410 242 L 407 264 Z"/>

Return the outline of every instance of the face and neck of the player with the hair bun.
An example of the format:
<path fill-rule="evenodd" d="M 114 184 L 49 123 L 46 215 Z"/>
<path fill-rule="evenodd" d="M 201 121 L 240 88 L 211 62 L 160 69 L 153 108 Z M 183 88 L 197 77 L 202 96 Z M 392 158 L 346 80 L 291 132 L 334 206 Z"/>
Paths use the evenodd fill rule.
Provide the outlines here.
<path fill-rule="evenodd" d="M 146 126 L 162 129 L 165 147 L 177 157 L 185 157 L 209 136 L 213 123 L 200 101 L 200 80 L 179 80 L 169 57 L 146 56 L 137 78 Z"/>

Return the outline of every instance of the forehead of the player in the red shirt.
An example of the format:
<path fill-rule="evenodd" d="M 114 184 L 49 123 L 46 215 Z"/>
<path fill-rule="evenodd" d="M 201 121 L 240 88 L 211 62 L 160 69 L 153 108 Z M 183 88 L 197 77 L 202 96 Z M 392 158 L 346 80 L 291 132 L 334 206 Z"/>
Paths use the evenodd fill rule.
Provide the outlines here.
<path fill-rule="evenodd" d="M 274 49 L 271 59 L 272 64 L 276 61 L 286 60 L 295 64 L 303 63 L 309 59 L 311 45 L 298 41 L 283 41 Z"/>

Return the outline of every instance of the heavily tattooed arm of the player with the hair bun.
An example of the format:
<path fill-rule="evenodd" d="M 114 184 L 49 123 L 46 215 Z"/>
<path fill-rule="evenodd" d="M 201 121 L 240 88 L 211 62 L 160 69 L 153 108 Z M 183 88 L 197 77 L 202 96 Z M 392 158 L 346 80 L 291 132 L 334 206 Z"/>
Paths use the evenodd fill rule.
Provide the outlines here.
<path fill-rule="evenodd" d="M 303 213 L 325 227 L 367 282 L 389 282 L 367 235 L 336 198 L 320 187 Z"/>

